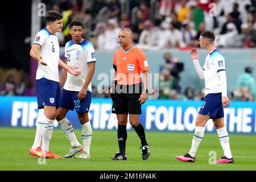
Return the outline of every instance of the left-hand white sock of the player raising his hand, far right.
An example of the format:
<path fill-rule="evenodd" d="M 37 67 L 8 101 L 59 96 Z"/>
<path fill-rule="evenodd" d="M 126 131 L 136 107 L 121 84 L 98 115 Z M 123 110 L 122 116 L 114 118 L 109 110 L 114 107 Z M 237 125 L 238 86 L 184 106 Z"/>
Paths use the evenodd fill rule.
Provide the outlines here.
<path fill-rule="evenodd" d="M 201 143 L 201 140 L 203 140 L 203 138 L 204 138 L 204 127 L 196 126 L 195 134 L 192 140 L 191 150 L 188 152 L 188 154 L 191 155 L 193 158 L 195 158 L 197 148 L 199 147 L 199 144 Z"/>

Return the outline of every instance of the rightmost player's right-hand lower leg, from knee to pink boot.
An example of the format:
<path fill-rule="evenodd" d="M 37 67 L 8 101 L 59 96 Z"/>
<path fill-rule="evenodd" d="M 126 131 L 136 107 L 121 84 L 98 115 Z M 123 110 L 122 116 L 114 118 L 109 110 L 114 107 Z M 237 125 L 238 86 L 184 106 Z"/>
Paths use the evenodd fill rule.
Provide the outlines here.
<path fill-rule="evenodd" d="M 221 147 L 224 151 L 224 156 L 214 163 L 234 163 L 229 145 L 229 134 L 224 125 L 224 118 L 213 119 L 213 123 L 217 129 L 218 138 L 220 139 Z"/>

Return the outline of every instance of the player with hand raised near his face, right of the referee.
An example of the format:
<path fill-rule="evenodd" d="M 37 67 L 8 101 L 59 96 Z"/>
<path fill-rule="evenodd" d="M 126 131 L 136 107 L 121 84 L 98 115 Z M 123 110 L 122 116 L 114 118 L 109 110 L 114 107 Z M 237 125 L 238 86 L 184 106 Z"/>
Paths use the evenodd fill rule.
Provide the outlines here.
<path fill-rule="evenodd" d="M 195 135 L 193 136 L 191 150 L 183 156 L 176 156 L 176 159 L 183 162 L 195 162 L 196 151 L 204 137 L 204 129 L 207 121 L 212 118 L 217 129 L 224 156 L 214 163 L 234 163 L 230 146 L 229 135 L 224 126 L 224 109 L 229 107 L 230 102 L 227 96 L 225 59 L 220 51 L 214 46 L 215 36 L 213 32 L 204 31 L 199 38 L 200 47 L 206 49 L 208 55 L 205 59 L 203 69 L 199 64 L 199 55 L 196 48 L 191 51 L 193 64 L 197 75 L 205 79 L 205 100 L 196 118 Z"/>

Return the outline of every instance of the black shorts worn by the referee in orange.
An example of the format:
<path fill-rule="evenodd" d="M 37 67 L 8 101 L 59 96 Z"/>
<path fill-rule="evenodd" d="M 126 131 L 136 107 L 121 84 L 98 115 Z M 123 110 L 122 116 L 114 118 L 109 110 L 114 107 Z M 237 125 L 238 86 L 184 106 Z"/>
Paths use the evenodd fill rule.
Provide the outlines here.
<path fill-rule="evenodd" d="M 142 93 L 142 84 L 119 85 L 112 87 L 110 96 L 113 101 L 114 114 L 142 114 L 139 96 Z"/>

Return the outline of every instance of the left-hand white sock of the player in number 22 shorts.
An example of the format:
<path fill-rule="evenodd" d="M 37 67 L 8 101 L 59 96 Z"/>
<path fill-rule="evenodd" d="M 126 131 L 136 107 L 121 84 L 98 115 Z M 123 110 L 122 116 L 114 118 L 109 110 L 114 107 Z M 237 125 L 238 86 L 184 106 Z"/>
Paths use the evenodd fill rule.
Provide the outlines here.
<path fill-rule="evenodd" d="M 60 128 L 63 130 L 64 134 L 66 135 L 67 139 L 71 143 L 71 146 L 80 146 L 81 144 L 76 138 L 71 122 L 69 122 L 68 119 L 65 117 L 64 119 L 61 119 L 60 121 L 58 121 L 58 123 L 60 125 Z"/>

